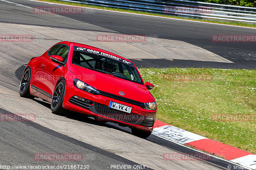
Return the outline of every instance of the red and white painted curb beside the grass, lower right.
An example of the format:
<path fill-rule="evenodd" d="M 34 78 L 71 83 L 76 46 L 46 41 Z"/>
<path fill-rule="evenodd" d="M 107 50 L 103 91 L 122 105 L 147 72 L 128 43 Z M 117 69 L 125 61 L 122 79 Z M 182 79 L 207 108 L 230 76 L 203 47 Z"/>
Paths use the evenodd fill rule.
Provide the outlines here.
<path fill-rule="evenodd" d="M 159 120 L 156 120 L 152 133 L 180 144 L 193 146 L 200 151 L 214 153 L 214 155 L 221 156 L 242 166 L 256 169 L 255 154 L 185 131 Z"/>

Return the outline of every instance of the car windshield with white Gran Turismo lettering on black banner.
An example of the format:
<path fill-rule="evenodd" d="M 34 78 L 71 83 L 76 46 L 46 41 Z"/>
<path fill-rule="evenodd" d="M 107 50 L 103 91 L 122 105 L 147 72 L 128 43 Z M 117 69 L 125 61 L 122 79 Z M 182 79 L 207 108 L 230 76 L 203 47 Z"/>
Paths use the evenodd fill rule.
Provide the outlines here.
<path fill-rule="evenodd" d="M 142 84 L 140 75 L 131 62 L 107 53 L 74 46 L 72 63 Z"/>

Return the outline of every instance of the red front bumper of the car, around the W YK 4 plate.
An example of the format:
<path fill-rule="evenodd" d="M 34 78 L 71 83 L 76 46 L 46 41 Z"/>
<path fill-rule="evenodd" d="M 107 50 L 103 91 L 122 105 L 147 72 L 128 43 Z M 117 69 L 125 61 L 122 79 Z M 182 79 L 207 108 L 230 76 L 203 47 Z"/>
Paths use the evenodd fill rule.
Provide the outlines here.
<path fill-rule="evenodd" d="M 132 112 L 126 113 L 109 108 L 110 101 L 130 106 L 132 107 Z M 153 130 L 156 121 L 156 110 L 145 110 L 138 105 L 131 104 L 131 102 L 126 103 L 124 100 L 120 101 L 108 96 L 87 93 L 74 87 L 71 81 L 67 82 L 63 107 L 68 110 L 92 115 L 99 121 L 110 121 L 121 126 L 135 127 L 150 132 Z"/>

